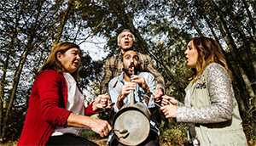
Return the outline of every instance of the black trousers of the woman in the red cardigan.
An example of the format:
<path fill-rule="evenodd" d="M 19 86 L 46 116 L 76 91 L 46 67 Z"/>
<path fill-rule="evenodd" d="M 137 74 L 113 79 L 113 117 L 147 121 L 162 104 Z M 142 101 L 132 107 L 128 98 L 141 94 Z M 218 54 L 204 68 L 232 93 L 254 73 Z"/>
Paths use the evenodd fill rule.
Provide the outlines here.
<path fill-rule="evenodd" d="M 73 134 L 49 137 L 45 146 L 98 146 L 86 138 L 81 138 Z"/>

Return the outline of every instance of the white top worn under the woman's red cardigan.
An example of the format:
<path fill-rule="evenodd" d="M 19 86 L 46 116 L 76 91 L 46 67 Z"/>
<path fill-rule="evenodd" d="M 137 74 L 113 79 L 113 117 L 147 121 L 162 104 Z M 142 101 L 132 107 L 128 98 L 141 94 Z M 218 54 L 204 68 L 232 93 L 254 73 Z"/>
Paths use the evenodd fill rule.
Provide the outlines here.
<path fill-rule="evenodd" d="M 77 86 L 77 82 L 74 80 L 73 76 L 69 73 L 63 74 L 66 82 L 67 82 L 67 106 L 66 110 L 72 111 L 77 115 L 84 115 L 84 97 L 83 94 L 79 91 L 79 87 Z M 80 127 L 55 127 L 55 131 L 51 134 L 51 136 L 60 136 L 65 133 L 73 133 L 75 135 L 80 135 L 82 128 Z"/>

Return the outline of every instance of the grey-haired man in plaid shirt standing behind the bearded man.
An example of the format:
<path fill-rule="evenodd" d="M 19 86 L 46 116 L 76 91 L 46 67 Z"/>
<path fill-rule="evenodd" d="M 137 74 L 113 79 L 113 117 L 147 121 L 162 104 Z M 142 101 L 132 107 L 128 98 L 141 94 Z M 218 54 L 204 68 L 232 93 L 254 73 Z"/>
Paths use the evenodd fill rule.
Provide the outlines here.
<path fill-rule="evenodd" d="M 101 93 L 108 93 L 108 82 L 113 79 L 113 77 L 119 76 L 121 74 L 122 68 L 120 63 L 122 54 L 127 50 L 132 50 L 135 43 L 135 36 L 129 30 L 123 30 L 117 39 L 118 45 L 121 48 L 121 52 L 107 59 L 105 63 L 104 76 L 101 84 Z M 150 72 L 154 76 L 156 81 L 154 98 L 159 100 L 165 92 L 164 78 L 157 70 L 154 69 L 152 60 L 147 54 L 137 53 L 137 56 L 140 59 L 138 62 L 140 68 L 138 70 L 140 72 Z"/>

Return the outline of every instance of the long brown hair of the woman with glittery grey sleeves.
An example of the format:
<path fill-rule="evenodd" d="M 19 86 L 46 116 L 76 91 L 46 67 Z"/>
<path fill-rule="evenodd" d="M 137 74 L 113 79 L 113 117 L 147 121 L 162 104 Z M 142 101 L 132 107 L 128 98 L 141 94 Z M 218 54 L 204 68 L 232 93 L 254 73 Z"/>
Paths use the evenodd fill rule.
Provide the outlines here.
<path fill-rule="evenodd" d="M 225 70 L 228 71 L 230 77 L 232 78 L 231 71 L 229 70 L 227 62 L 224 58 L 224 54 L 222 53 L 221 47 L 217 41 L 206 36 L 198 36 L 191 38 L 188 41 L 186 47 L 188 46 L 190 41 L 193 41 L 194 47 L 198 52 L 195 69 L 192 68 L 194 75 L 192 76 L 191 80 L 193 80 L 193 83 L 207 68 L 207 65 L 213 62 L 224 66 Z"/>

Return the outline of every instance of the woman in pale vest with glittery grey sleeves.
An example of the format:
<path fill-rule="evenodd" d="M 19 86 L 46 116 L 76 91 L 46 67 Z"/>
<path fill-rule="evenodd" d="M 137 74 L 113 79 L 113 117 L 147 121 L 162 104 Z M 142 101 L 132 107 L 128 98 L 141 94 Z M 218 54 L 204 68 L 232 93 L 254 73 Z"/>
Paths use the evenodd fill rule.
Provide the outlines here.
<path fill-rule="evenodd" d="M 185 89 L 184 104 L 164 96 L 160 109 L 166 118 L 189 124 L 189 145 L 246 146 L 231 72 L 218 42 L 194 37 L 186 48 L 187 65 L 194 75 Z"/>

